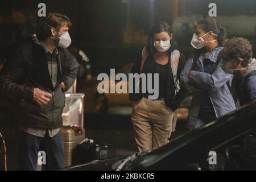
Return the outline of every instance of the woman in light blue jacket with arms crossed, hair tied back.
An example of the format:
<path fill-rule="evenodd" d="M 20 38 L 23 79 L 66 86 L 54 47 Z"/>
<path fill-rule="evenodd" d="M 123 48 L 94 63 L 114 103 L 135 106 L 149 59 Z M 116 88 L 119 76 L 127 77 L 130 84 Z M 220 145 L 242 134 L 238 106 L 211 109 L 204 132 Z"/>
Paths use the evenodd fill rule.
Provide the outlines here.
<path fill-rule="evenodd" d="M 213 18 L 197 23 L 191 45 L 195 48 L 185 65 L 181 85 L 193 92 L 188 129 L 193 130 L 236 109 L 231 93 L 232 75 L 220 68 L 225 28 Z"/>

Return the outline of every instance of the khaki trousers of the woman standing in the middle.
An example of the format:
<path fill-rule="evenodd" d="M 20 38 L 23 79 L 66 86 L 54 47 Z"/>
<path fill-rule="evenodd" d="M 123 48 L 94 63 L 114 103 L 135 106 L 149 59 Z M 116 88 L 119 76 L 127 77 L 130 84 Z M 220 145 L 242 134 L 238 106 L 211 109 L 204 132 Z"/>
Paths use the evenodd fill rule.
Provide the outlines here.
<path fill-rule="evenodd" d="M 139 151 L 151 150 L 168 143 L 174 113 L 164 100 L 141 100 L 133 103 L 131 122 Z"/>

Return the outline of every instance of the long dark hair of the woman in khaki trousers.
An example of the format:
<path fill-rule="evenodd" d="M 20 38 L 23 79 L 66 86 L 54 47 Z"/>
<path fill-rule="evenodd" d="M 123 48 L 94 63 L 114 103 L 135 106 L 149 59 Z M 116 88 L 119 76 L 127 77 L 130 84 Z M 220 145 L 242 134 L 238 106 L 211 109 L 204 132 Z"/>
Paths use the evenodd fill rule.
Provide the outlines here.
<path fill-rule="evenodd" d="M 147 46 L 146 46 L 147 52 L 150 53 L 151 55 L 154 55 L 156 51 L 154 46 L 154 35 L 160 34 L 161 32 L 168 32 L 168 34 L 171 36 L 172 28 L 166 22 L 158 22 L 151 28 L 150 33 L 148 35 Z M 174 35 L 172 35 L 172 39 L 170 40 L 170 43 L 171 43 L 171 48 L 167 52 L 169 54 L 173 49 L 177 47 L 176 41 L 174 39 Z"/>

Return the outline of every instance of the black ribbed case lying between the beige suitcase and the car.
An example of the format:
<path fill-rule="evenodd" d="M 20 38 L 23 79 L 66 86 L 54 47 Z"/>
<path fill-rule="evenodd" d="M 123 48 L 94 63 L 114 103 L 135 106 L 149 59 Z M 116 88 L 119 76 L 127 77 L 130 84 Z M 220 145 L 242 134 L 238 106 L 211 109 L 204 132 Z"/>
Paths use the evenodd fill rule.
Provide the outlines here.
<path fill-rule="evenodd" d="M 83 164 L 91 160 L 112 158 L 115 156 L 113 144 L 94 143 L 85 139 L 73 150 L 72 166 Z"/>

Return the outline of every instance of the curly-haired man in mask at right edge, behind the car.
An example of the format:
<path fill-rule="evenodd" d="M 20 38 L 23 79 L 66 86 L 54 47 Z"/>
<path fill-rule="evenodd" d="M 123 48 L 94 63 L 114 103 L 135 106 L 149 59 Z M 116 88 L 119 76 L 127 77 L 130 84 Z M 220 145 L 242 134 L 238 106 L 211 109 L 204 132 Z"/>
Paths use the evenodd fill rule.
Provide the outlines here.
<path fill-rule="evenodd" d="M 249 40 L 231 38 L 223 49 L 222 69 L 234 75 L 233 85 L 240 105 L 256 100 L 256 61 Z"/>

